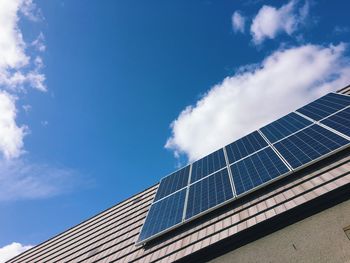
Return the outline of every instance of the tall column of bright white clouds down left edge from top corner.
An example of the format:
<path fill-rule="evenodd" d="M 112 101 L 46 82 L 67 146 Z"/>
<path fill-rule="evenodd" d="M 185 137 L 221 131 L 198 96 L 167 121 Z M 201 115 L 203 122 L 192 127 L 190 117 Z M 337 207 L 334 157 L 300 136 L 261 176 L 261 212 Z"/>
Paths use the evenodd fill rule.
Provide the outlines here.
<path fill-rule="evenodd" d="M 0 1 L 0 156 L 19 157 L 23 152 L 23 139 L 28 127 L 16 123 L 17 94 L 29 87 L 46 91 L 43 62 L 39 54 L 29 56 L 28 49 L 45 50 L 44 36 L 39 34 L 28 45 L 19 29 L 20 17 L 37 20 L 32 0 Z"/>

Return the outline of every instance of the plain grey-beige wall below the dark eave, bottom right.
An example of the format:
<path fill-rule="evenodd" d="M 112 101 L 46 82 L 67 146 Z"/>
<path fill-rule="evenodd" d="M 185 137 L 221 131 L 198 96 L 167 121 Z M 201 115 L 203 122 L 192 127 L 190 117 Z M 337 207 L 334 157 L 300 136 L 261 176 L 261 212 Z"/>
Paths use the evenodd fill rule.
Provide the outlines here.
<path fill-rule="evenodd" d="M 347 262 L 350 200 L 258 239 L 212 262 Z"/>

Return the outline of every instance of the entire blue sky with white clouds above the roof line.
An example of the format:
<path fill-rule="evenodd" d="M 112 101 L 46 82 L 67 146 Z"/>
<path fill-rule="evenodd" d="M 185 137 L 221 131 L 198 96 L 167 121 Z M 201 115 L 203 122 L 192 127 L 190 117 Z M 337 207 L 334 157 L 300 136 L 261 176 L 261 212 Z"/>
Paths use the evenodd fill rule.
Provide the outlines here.
<path fill-rule="evenodd" d="M 344 5 L 0 0 L 0 261 L 350 84 Z"/>

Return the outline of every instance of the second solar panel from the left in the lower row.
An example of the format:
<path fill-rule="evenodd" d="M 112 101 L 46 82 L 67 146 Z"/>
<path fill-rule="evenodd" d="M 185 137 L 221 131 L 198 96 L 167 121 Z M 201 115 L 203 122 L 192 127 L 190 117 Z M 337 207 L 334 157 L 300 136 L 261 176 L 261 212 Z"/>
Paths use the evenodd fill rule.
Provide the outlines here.
<path fill-rule="evenodd" d="M 233 198 L 227 169 L 223 169 L 190 186 L 186 219 Z"/>

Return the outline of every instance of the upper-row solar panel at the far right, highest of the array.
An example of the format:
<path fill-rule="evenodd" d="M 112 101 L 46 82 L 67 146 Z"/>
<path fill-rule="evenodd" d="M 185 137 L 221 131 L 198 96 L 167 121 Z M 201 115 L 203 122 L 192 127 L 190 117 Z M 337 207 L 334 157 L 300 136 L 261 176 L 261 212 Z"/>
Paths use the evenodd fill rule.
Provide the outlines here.
<path fill-rule="evenodd" d="M 349 105 L 350 96 L 328 93 L 297 111 L 313 120 L 319 121 Z"/>

